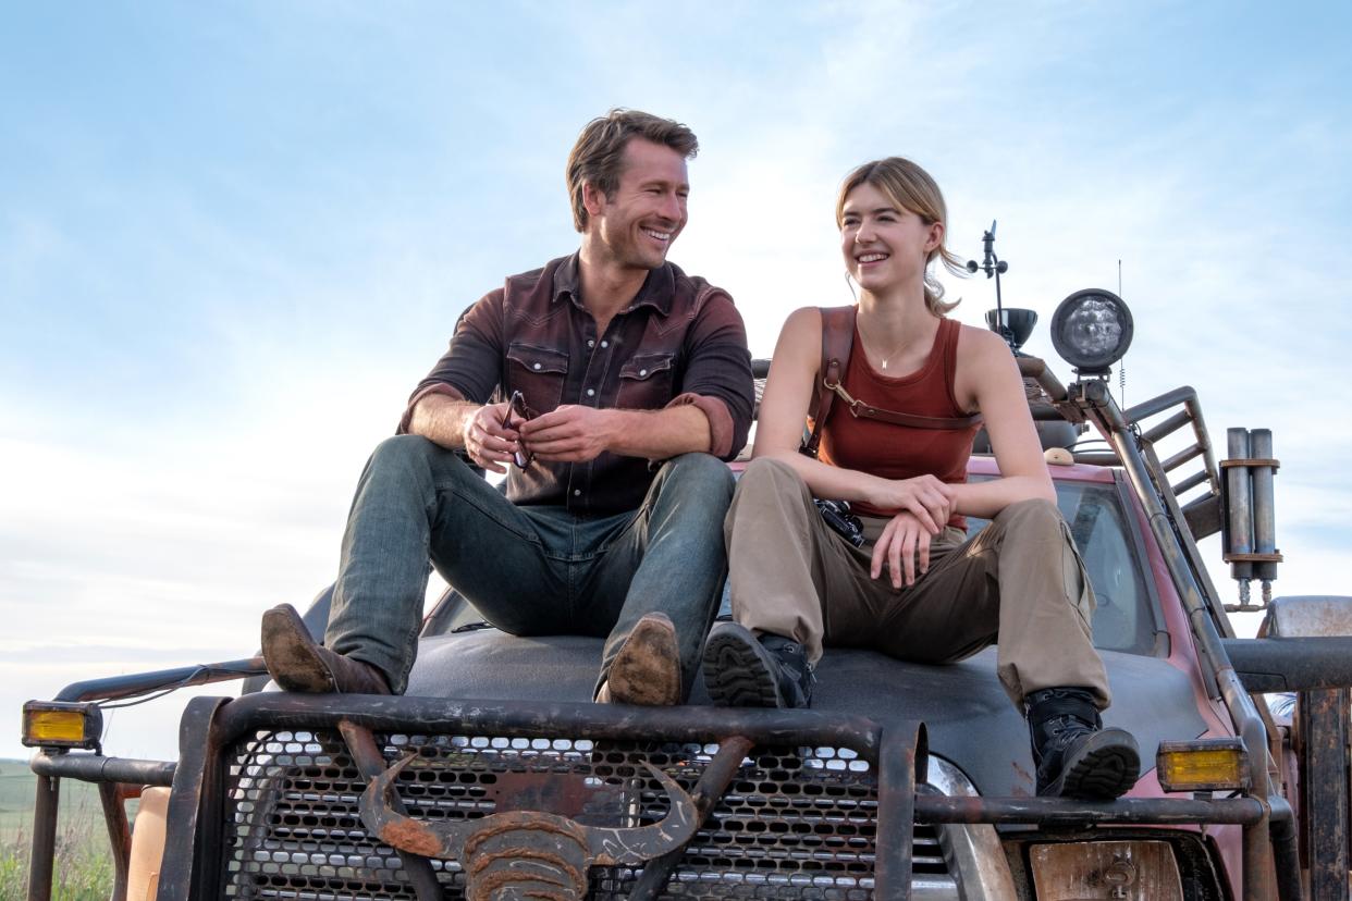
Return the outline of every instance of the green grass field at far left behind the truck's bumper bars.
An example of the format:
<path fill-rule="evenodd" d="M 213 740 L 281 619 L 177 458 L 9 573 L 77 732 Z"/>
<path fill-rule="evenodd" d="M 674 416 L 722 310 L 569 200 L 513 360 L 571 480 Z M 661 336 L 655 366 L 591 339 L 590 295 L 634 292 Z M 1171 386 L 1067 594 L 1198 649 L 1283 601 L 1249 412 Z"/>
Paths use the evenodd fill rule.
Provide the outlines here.
<path fill-rule="evenodd" d="M 0 761 L 0 900 L 23 898 L 32 844 L 37 779 L 23 761 Z M 104 901 L 112 892 L 112 856 L 103 825 L 99 790 L 87 782 L 61 782 L 57 865 L 51 897 Z"/>

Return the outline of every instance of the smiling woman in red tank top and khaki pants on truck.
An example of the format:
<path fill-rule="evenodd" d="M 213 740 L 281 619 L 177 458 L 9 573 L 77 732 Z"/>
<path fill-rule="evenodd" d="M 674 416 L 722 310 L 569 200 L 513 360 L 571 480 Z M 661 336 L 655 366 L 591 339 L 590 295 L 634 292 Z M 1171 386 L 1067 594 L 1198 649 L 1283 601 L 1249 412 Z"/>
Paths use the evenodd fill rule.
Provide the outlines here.
<path fill-rule="evenodd" d="M 1109 686 L 1091 643 L 1092 590 L 1009 347 L 944 315 L 953 304 L 929 265 L 956 272 L 957 261 L 938 186 L 907 159 L 869 162 L 841 186 L 836 219 L 859 304 L 795 311 L 780 332 L 726 524 L 734 621 L 710 632 L 710 694 L 806 706 L 823 643 L 949 663 L 999 636 L 998 673 L 1029 717 L 1038 793 L 1117 797 L 1138 755 L 1130 735 L 1101 728 Z M 841 313 L 823 344 L 823 319 Z M 838 334 L 852 335 L 848 361 L 827 365 Z M 813 458 L 799 453 L 803 421 L 823 384 L 838 398 L 814 423 Z M 982 421 L 1000 477 L 968 484 Z M 863 546 L 833 531 L 814 498 L 849 501 Z M 992 523 L 967 540 L 965 516 Z"/>

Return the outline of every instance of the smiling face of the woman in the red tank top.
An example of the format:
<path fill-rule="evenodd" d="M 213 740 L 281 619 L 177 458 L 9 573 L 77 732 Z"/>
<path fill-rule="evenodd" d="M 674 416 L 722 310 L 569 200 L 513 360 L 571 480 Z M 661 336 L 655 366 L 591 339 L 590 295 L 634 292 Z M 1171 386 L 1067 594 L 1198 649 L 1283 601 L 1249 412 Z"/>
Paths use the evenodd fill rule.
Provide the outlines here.
<path fill-rule="evenodd" d="M 845 195 L 841 253 L 849 274 L 865 290 L 923 285 L 926 258 L 942 239 L 941 223 L 925 224 L 868 182 Z"/>

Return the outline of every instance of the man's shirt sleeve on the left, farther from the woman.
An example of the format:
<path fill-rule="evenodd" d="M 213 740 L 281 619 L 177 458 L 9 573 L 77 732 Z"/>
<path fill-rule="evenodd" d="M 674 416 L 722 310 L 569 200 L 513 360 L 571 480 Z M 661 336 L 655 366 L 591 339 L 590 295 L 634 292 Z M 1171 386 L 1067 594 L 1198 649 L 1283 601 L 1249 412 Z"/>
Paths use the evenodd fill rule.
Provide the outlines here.
<path fill-rule="evenodd" d="M 423 397 L 445 394 L 475 404 L 488 403 L 502 378 L 502 311 L 503 292 L 499 289 L 461 313 L 450 347 L 408 396 L 397 434 L 408 432 L 414 408 Z"/>

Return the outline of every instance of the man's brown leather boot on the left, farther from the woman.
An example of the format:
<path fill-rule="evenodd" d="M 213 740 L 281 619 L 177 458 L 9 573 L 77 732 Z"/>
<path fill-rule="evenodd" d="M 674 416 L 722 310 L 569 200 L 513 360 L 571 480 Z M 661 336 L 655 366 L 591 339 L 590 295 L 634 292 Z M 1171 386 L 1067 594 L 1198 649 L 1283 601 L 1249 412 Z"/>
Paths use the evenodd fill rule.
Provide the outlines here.
<path fill-rule="evenodd" d="M 287 692 L 389 694 L 380 670 L 319 644 L 291 604 L 262 615 L 262 658 L 268 674 Z"/>

